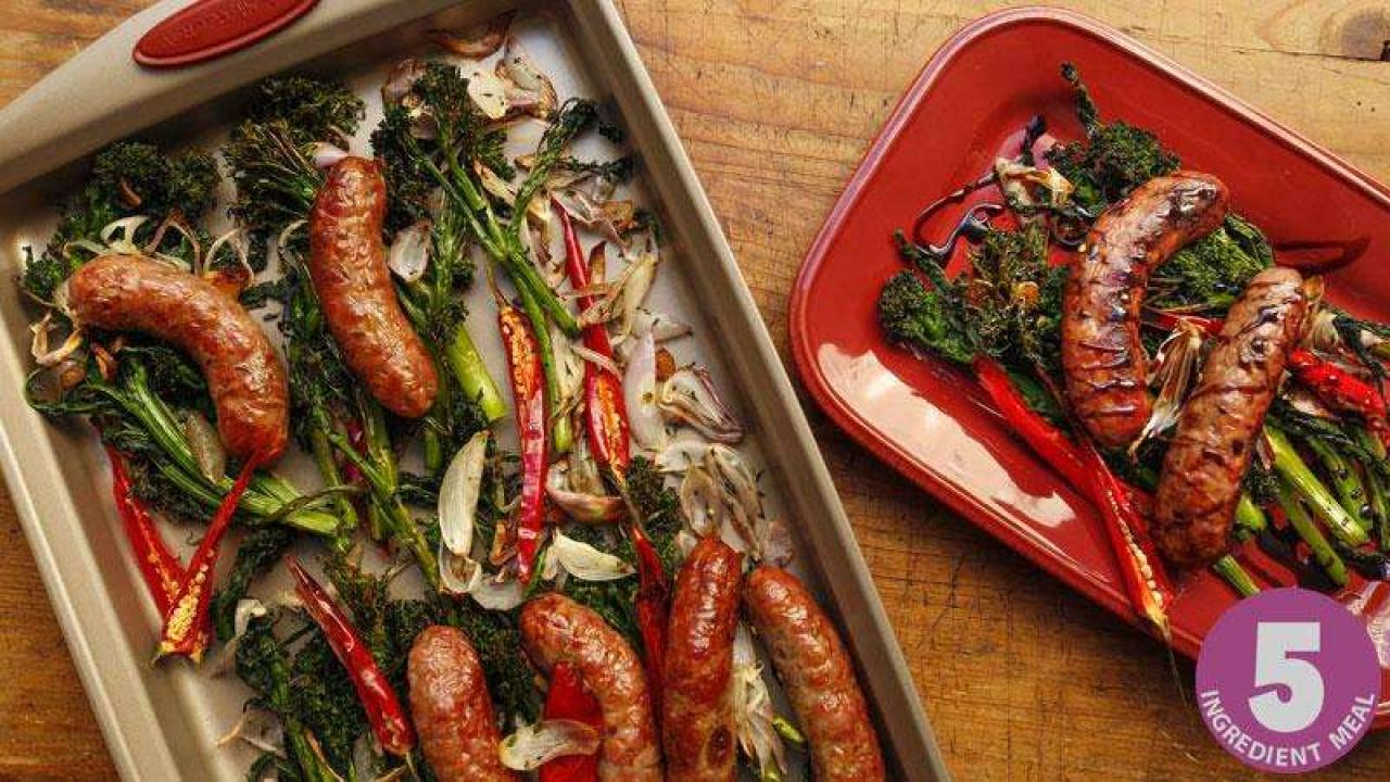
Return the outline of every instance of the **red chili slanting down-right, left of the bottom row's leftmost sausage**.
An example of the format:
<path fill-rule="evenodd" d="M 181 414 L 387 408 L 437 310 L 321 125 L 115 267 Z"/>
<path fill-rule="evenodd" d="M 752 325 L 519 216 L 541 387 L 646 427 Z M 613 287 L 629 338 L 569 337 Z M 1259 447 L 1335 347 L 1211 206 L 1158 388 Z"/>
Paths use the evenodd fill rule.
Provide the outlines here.
<path fill-rule="evenodd" d="M 416 731 L 410 726 L 406 710 L 400 705 L 400 699 L 396 697 L 386 673 L 371 655 L 367 641 L 299 559 L 289 557 L 288 565 L 295 576 L 295 594 L 304 601 L 304 609 L 324 632 L 324 639 L 332 647 L 338 662 L 348 669 L 348 678 L 357 690 L 357 700 L 367 712 L 367 722 L 371 724 L 377 743 L 396 757 L 409 756 L 416 746 Z"/>

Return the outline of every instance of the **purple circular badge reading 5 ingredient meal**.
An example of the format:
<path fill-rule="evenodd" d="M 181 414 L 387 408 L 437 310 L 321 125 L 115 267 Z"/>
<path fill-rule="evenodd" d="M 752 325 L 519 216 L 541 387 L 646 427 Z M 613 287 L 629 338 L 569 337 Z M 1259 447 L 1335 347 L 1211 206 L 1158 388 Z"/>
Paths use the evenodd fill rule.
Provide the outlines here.
<path fill-rule="evenodd" d="M 1322 768 L 1365 736 L 1380 700 L 1371 636 L 1337 601 L 1302 589 L 1248 597 L 1197 658 L 1197 708 L 1216 742 L 1277 774 Z"/>

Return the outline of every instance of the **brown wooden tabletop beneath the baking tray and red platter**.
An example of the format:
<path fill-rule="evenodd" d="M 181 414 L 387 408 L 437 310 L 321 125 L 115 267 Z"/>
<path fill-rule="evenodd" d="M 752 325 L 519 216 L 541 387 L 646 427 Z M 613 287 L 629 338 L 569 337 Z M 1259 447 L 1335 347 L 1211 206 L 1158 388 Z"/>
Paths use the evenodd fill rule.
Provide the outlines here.
<path fill-rule="evenodd" d="M 931 51 L 1008 3 L 617 1 L 790 362 L 788 291 L 859 156 Z M 147 4 L 4 0 L 0 102 Z M 1384 3 L 1062 4 L 1390 179 Z M 809 410 L 959 779 L 1250 775 L 1184 705 L 1158 644 L 895 479 Z M 0 500 L 0 779 L 113 778 L 8 495 Z M 1179 671 L 1190 690 L 1191 667 Z M 1336 776 L 1384 778 L 1387 767 L 1390 733 L 1373 735 Z"/>

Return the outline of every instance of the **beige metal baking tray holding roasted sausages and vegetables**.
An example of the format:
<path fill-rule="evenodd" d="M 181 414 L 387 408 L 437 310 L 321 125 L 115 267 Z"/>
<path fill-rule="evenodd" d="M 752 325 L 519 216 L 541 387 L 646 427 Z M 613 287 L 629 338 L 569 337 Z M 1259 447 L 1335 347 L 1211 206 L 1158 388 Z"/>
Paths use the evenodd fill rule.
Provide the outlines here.
<path fill-rule="evenodd" d="M 243 88 L 293 68 L 345 78 L 379 111 L 381 75 L 421 32 L 466 26 L 512 3 L 334 0 L 253 49 L 178 71 L 147 71 L 131 47 L 182 6 L 160 3 L 133 17 L 0 113 L 0 248 L 11 271 L 22 248 L 40 245 L 53 205 L 101 145 L 140 134 L 175 145 L 214 146 Z M 749 423 L 739 449 L 764 468 L 769 508 L 792 522 L 802 573 L 835 615 L 855 655 L 895 776 L 944 779 L 902 654 L 855 544 L 806 419 L 758 316 L 734 257 L 660 100 L 607 0 L 523 4 L 518 31 L 563 95 L 606 103 L 639 160 L 634 198 L 662 220 L 667 245 L 653 309 L 696 327 L 678 355 L 708 363 Z M 363 134 L 374 124 L 368 115 Z M 594 142 L 598 143 L 598 142 Z M 366 152 L 364 135 L 354 146 Z M 482 285 L 473 334 L 495 376 L 500 342 Z M 85 427 L 53 426 L 22 397 L 28 321 L 15 274 L 0 276 L 0 463 L 63 625 L 79 675 L 126 779 L 239 779 L 249 756 L 220 749 L 246 690 L 183 664 L 149 665 L 158 618 L 118 534 L 104 459 Z M 500 427 L 499 431 L 505 431 Z M 774 434 L 774 436 L 769 436 Z M 289 459 L 285 470 L 296 474 Z"/>

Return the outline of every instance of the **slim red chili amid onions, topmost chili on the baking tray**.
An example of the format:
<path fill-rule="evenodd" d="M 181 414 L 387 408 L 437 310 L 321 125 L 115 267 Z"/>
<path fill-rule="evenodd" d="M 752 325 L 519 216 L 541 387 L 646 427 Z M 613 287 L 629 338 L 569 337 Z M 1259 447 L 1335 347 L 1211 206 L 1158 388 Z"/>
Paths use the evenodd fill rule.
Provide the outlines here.
<path fill-rule="evenodd" d="M 594 267 L 595 259 L 602 256 L 603 242 L 589 250 L 589 262 L 585 264 L 570 214 L 559 202 L 552 200 L 552 203 L 560 216 L 560 230 L 564 234 L 564 264 L 570 274 L 570 285 L 575 289 L 588 288 L 589 270 Z M 591 306 L 594 306 L 594 296 L 580 296 L 581 309 Z M 602 323 L 584 328 L 584 346 L 600 356 L 613 358 L 613 344 Z M 623 402 L 623 378 L 594 362 L 584 362 L 584 424 L 589 447 L 594 449 L 594 459 L 599 466 L 612 468 L 619 473 L 627 470 L 631 461 L 631 445 L 627 405 Z"/>

